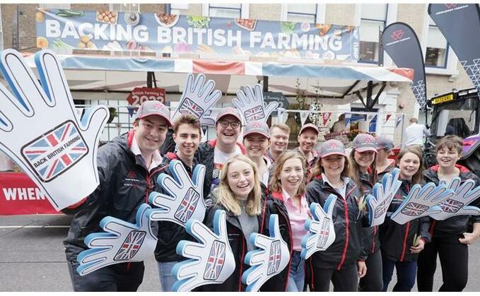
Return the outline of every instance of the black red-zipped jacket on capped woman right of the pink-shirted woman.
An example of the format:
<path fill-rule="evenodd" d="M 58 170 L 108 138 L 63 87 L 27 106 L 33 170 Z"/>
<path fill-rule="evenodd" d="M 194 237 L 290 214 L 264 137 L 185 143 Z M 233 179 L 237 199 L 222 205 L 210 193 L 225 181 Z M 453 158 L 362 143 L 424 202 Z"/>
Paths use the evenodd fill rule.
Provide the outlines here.
<path fill-rule="evenodd" d="M 341 270 L 343 266 L 356 264 L 359 259 L 365 260 L 361 257 L 362 227 L 368 225 L 368 219 L 358 210 L 361 192 L 353 180 L 346 185 L 345 199 L 320 176 L 307 186 L 308 203 L 320 203 L 323 207 L 330 194 L 337 196 L 333 212 L 335 241 L 327 250 L 313 254 L 310 263 L 316 268 Z"/>

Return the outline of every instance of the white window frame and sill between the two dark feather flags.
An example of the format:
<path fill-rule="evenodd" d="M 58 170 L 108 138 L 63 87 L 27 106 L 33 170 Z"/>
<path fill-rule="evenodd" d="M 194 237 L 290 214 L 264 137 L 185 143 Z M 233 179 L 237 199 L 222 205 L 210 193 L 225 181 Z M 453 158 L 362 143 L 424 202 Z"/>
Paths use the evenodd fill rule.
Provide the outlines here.
<path fill-rule="evenodd" d="M 423 52 L 423 61 L 425 61 L 426 57 L 426 52 L 427 52 L 427 42 L 428 42 L 428 29 L 430 28 L 430 22 L 428 19 L 428 4 L 425 4 L 425 18 L 423 18 L 423 32 L 422 38 L 421 38 L 421 50 Z M 448 41 L 447 41 L 447 46 Z M 452 47 L 448 49 L 448 54 L 447 54 L 447 65 L 445 68 L 438 68 L 438 67 L 431 67 L 425 65 L 425 73 L 426 74 L 434 74 L 434 75 L 445 75 L 445 76 L 457 76 L 458 75 L 458 59 L 457 56 L 455 55 L 455 52 L 453 52 Z"/>

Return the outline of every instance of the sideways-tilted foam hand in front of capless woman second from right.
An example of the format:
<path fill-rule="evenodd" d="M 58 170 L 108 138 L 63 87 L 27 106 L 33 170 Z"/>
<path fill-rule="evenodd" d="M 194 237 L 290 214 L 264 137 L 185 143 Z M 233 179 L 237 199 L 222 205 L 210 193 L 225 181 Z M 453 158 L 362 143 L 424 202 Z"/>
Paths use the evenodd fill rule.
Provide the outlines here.
<path fill-rule="evenodd" d="M 438 203 L 450 199 L 455 192 L 444 185 L 435 186 L 432 182 L 421 187 L 415 184 L 409 195 L 397 208 L 390 218 L 398 224 L 405 224 L 411 220 L 427 215 L 438 214 L 442 211 Z"/>

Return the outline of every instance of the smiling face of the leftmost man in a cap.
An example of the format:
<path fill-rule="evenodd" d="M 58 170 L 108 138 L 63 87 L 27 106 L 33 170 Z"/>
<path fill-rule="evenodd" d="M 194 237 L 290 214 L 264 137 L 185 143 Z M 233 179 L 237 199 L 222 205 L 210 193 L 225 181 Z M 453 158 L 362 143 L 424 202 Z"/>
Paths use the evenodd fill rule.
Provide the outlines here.
<path fill-rule="evenodd" d="M 134 122 L 136 143 L 142 153 L 153 153 L 163 145 L 167 134 L 167 122 L 162 117 L 151 115 Z"/>

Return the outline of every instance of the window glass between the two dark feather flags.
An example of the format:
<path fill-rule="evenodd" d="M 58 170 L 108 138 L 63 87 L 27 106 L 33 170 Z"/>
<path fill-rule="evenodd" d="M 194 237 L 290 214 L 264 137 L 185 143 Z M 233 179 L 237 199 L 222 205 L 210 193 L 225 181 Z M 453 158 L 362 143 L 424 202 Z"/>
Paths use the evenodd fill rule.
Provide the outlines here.
<path fill-rule="evenodd" d="M 428 16 L 428 39 L 425 54 L 425 66 L 447 68 L 448 43 L 442 32 Z"/>

